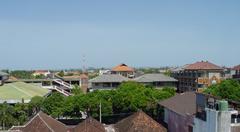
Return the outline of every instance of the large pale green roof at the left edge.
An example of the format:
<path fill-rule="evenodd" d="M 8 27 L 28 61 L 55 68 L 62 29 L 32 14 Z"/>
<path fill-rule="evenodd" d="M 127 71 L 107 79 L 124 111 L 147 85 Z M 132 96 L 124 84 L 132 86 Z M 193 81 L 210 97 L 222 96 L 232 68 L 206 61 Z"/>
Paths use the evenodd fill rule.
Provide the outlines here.
<path fill-rule="evenodd" d="M 0 86 L 0 99 L 31 99 L 34 96 L 44 96 L 48 92 L 47 89 L 24 82 L 8 83 Z"/>

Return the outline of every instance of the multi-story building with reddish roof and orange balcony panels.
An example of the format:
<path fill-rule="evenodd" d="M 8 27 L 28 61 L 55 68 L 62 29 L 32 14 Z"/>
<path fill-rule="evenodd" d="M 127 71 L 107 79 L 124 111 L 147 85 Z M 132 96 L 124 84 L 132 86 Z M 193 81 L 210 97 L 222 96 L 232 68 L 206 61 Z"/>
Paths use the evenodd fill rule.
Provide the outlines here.
<path fill-rule="evenodd" d="M 197 91 L 221 82 L 224 71 L 220 66 L 201 61 L 174 70 L 173 77 L 179 82 L 179 92 Z"/>

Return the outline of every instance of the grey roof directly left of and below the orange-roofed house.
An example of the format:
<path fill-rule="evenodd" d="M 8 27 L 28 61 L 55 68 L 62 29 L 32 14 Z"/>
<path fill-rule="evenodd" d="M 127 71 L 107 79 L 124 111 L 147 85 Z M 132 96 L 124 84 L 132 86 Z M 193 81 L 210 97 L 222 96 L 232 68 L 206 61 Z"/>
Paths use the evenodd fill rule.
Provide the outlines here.
<path fill-rule="evenodd" d="M 97 83 L 97 82 L 123 82 L 128 81 L 129 79 L 126 77 L 123 77 L 118 74 L 106 74 L 106 75 L 100 75 L 96 78 L 93 78 L 89 80 L 89 82 Z"/>

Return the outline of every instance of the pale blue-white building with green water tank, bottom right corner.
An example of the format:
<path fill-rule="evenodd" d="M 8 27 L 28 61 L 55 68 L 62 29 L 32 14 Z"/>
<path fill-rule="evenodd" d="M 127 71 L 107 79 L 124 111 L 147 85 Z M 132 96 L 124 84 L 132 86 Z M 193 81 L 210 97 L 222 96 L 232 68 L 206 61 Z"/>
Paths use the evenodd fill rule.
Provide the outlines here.
<path fill-rule="evenodd" d="M 196 93 L 197 111 L 193 132 L 239 132 L 240 114 L 234 108 L 239 104 Z"/>

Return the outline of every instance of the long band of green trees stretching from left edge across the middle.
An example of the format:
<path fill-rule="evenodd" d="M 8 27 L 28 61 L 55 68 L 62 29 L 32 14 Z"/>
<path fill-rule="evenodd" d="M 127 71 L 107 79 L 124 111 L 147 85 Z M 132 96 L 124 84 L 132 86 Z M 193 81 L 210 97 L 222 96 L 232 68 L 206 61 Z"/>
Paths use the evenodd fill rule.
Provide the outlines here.
<path fill-rule="evenodd" d="M 157 102 L 175 94 L 175 90 L 171 88 L 166 87 L 160 90 L 131 81 L 122 83 L 115 90 L 97 90 L 83 94 L 79 89 L 75 87 L 73 90 L 75 94 L 69 97 L 52 93 L 46 98 L 33 97 L 29 104 L 14 106 L 7 103 L 0 104 L 0 122 L 6 127 L 24 124 L 29 116 L 36 114 L 39 110 L 55 118 L 81 118 L 83 112 L 98 118 L 100 104 L 102 116 L 132 113 L 138 109 L 155 116 Z"/>

